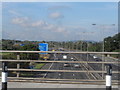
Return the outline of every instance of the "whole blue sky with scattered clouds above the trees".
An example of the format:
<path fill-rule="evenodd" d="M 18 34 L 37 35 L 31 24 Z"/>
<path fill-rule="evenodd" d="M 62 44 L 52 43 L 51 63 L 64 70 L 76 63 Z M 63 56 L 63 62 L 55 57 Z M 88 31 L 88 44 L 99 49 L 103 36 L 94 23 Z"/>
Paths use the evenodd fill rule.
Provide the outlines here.
<path fill-rule="evenodd" d="M 117 25 L 117 2 L 2 3 L 3 39 L 102 41 L 118 33 Z"/>

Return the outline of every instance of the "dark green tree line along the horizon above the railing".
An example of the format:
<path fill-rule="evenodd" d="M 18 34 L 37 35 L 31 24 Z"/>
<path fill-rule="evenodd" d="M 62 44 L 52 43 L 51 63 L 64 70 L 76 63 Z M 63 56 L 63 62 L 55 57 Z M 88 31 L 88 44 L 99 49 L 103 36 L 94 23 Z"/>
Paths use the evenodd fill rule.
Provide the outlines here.
<path fill-rule="evenodd" d="M 2 43 L 1 43 L 2 42 Z M 2 39 L 2 50 L 30 50 L 39 51 L 39 43 L 48 43 L 49 50 L 79 50 L 79 51 L 94 51 L 94 52 L 114 52 L 119 51 L 120 33 L 104 38 L 101 42 L 92 41 L 20 41 Z M 104 44 L 104 45 L 103 45 Z"/>

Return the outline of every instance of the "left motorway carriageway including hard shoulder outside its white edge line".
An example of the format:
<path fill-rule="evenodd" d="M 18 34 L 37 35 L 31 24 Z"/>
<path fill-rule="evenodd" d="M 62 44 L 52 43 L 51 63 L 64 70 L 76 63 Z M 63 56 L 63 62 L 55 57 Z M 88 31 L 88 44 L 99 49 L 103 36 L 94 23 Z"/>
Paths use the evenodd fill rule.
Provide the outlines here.
<path fill-rule="evenodd" d="M 54 54 L 52 55 L 54 57 L 55 61 L 61 61 L 63 59 L 63 55 L 62 54 Z M 53 58 L 52 57 L 52 58 Z M 65 59 L 66 61 L 73 61 L 71 59 L 71 55 L 67 54 L 67 59 Z M 75 68 L 73 63 L 69 64 L 70 66 L 65 67 L 64 63 L 47 63 L 42 69 L 51 69 L 51 70 L 82 70 L 82 66 L 80 68 Z M 86 79 L 88 78 L 88 76 L 86 75 L 86 73 L 65 73 L 65 72 L 46 72 L 46 73 L 42 73 L 44 78 L 55 78 L 55 79 Z"/>

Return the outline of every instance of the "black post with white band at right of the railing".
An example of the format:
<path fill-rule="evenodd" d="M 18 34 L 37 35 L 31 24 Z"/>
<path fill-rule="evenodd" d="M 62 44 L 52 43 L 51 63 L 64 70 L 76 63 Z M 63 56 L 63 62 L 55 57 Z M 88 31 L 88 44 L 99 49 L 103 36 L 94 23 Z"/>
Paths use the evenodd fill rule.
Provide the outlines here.
<path fill-rule="evenodd" d="M 106 90 L 112 90 L 112 66 L 110 64 L 106 65 Z"/>

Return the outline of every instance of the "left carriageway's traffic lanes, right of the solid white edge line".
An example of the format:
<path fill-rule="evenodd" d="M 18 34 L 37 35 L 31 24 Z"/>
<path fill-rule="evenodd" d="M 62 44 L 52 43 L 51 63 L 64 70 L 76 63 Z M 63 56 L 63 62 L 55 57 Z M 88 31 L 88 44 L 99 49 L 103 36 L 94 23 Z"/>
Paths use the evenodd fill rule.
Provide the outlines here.
<path fill-rule="evenodd" d="M 55 60 L 63 60 L 62 57 L 63 55 L 55 55 Z M 68 54 L 67 59 L 69 61 L 73 61 L 71 59 L 71 56 Z M 82 70 L 82 67 L 80 68 L 75 68 L 74 64 L 70 63 L 70 66 L 64 66 L 64 63 L 53 63 L 52 67 L 50 68 L 51 70 Z M 85 73 L 48 73 L 46 75 L 46 78 L 56 78 L 56 79 L 80 79 L 80 78 L 87 78 L 87 75 Z"/>

